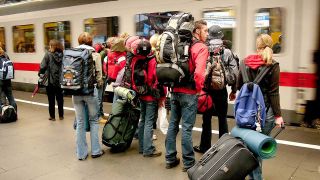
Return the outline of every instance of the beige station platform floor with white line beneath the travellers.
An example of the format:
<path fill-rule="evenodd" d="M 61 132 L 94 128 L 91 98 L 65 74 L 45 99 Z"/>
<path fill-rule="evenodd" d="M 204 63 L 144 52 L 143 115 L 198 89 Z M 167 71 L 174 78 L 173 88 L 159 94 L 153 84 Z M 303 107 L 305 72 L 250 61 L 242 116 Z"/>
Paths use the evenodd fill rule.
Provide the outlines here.
<path fill-rule="evenodd" d="M 65 100 L 64 120 L 49 121 L 47 96 L 14 91 L 19 120 L 0 124 L 0 180 L 185 180 L 187 173 L 182 165 L 165 168 L 165 135 L 155 130 L 154 141 L 162 156 L 145 158 L 138 153 L 138 141 L 124 153 L 106 153 L 97 159 L 90 156 L 79 161 L 75 154 L 74 111 L 71 98 Z M 111 104 L 104 103 L 106 113 Z M 57 113 L 57 111 L 56 111 Z M 56 115 L 58 116 L 58 115 Z M 213 121 L 212 143 L 218 139 L 217 119 Z M 228 119 L 229 130 L 234 126 Z M 201 115 L 197 115 L 193 131 L 193 144 L 201 135 Z M 100 124 L 100 134 L 103 124 Z M 90 147 L 89 134 L 87 138 Z M 320 179 L 320 131 L 303 127 L 287 126 L 278 137 L 278 152 L 275 158 L 263 162 L 265 180 L 318 180 Z M 178 157 L 181 159 L 181 134 L 177 138 Z M 90 149 L 89 149 L 90 150 Z M 196 153 L 196 160 L 201 154 Z M 241 167 L 239 167 L 241 168 Z"/>

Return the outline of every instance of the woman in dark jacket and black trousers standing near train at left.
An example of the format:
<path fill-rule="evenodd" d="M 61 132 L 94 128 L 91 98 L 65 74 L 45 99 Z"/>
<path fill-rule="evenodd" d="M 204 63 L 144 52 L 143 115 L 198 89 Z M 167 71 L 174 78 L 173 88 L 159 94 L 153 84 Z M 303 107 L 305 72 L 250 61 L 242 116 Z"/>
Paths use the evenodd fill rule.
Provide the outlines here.
<path fill-rule="evenodd" d="M 59 119 L 63 120 L 63 94 L 60 87 L 61 62 L 63 48 L 58 40 L 49 42 L 49 50 L 44 55 L 38 75 L 48 75 L 48 86 L 46 87 L 49 101 L 49 120 L 55 121 L 55 99 L 58 103 Z"/>

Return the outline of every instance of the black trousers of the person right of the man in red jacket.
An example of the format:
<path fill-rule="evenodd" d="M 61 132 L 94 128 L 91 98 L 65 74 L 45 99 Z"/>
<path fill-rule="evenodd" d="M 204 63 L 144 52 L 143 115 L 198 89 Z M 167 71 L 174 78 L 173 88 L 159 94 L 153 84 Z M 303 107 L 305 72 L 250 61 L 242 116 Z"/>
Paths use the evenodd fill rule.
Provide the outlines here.
<path fill-rule="evenodd" d="M 200 149 L 203 151 L 207 151 L 211 147 L 211 118 L 213 116 L 213 112 L 215 111 L 218 120 L 219 120 L 219 138 L 228 133 L 228 123 L 227 123 L 227 112 L 228 112 L 228 92 L 227 89 L 216 90 L 209 92 L 209 95 L 214 102 L 214 107 L 205 113 L 202 116 L 202 133 L 201 133 L 201 141 L 200 141 Z"/>

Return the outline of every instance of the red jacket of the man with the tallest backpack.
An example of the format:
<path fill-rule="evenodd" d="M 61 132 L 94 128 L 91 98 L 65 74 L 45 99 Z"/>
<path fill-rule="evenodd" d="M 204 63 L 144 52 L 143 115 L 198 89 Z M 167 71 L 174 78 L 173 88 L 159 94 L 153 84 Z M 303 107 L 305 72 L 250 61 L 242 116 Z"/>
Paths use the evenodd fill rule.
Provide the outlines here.
<path fill-rule="evenodd" d="M 201 42 L 195 43 L 190 49 L 190 54 L 191 59 L 189 60 L 189 70 L 192 73 L 194 72 L 196 89 L 177 87 L 173 89 L 173 92 L 180 92 L 185 94 L 200 94 L 201 92 L 205 78 L 206 61 L 209 56 L 208 47 Z"/>

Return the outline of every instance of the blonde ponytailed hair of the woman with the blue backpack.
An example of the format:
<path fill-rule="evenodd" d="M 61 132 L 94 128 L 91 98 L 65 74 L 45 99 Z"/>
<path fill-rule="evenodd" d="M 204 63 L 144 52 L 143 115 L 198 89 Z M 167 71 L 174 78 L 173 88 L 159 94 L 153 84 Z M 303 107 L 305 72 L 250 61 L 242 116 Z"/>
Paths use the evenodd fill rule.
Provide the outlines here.
<path fill-rule="evenodd" d="M 268 34 L 260 34 L 256 40 L 256 48 L 258 54 L 261 56 L 266 65 L 272 64 L 272 51 L 273 41 Z"/>

